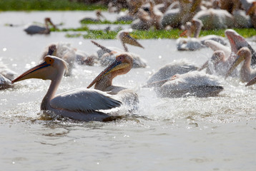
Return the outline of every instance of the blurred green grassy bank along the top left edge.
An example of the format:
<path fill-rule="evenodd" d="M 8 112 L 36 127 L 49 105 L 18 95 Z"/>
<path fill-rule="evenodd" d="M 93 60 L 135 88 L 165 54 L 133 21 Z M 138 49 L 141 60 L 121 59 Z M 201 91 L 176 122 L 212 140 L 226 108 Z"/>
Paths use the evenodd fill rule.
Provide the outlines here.
<path fill-rule="evenodd" d="M 0 11 L 65 11 L 65 10 L 107 10 L 107 6 L 88 5 L 69 0 L 0 0 Z"/>

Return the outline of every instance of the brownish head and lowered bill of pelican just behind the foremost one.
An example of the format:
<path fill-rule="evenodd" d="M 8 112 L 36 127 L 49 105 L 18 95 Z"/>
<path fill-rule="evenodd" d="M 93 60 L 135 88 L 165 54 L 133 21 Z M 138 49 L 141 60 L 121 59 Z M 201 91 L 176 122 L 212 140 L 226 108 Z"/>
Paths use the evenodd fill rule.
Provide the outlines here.
<path fill-rule="evenodd" d="M 109 76 L 109 80 L 112 83 L 112 79 L 116 76 L 128 73 L 132 68 L 132 56 L 129 53 L 122 53 L 117 55 L 115 61 L 107 68 L 99 73 L 99 75 L 90 83 L 87 88 L 91 88 L 95 83 L 98 83 L 105 76 Z"/>

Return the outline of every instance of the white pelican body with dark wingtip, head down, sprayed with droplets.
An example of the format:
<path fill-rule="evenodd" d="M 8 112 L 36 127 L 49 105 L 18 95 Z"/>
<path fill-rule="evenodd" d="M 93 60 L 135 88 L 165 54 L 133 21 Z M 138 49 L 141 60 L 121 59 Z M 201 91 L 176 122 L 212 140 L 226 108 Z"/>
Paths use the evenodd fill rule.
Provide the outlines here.
<path fill-rule="evenodd" d="M 200 71 L 176 74 L 172 78 L 155 82 L 154 87 L 157 95 L 162 98 L 181 98 L 191 95 L 211 97 L 223 90 L 215 76 Z"/>

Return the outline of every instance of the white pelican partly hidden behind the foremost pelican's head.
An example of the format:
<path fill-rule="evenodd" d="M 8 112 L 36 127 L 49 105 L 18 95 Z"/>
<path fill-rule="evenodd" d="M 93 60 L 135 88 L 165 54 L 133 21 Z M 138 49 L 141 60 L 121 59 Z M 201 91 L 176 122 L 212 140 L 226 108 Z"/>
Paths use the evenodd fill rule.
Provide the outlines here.
<path fill-rule="evenodd" d="M 72 75 L 72 68 L 74 67 L 74 61 L 76 60 L 76 52 L 69 43 L 51 43 L 49 46 L 46 46 L 41 55 L 41 60 L 44 60 L 46 55 L 57 56 L 66 61 L 68 63 L 69 71 L 66 71 L 65 76 Z"/>

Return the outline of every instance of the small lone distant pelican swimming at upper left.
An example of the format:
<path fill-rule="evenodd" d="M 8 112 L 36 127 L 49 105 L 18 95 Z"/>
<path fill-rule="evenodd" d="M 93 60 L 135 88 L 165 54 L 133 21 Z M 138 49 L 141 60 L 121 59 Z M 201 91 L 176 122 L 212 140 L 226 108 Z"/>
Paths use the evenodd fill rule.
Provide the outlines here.
<path fill-rule="evenodd" d="M 50 28 L 49 28 L 49 24 L 51 24 L 51 26 L 56 28 L 56 26 L 51 22 L 50 18 L 45 18 L 44 26 L 32 24 L 32 25 L 26 26 L 26 28 L 24 28 L 24 31 L 26 31 L 26 33 L 31 34 L 31 35 L 36 34 L 36 33 L 49 34 L 51 32 Z"/>

